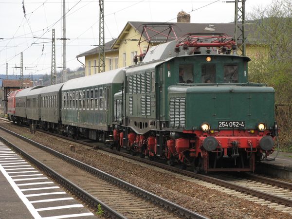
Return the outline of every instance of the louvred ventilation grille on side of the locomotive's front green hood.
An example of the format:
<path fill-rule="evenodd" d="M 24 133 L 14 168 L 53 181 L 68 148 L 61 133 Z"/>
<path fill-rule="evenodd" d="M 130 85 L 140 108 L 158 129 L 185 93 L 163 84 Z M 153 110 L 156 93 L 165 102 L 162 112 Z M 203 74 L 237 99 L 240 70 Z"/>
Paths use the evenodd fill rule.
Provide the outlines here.
<path fill-rule="evenodd" d="M 169 125 L 171 128 L 185 127 L 185 97 L 170 98 Z"/>

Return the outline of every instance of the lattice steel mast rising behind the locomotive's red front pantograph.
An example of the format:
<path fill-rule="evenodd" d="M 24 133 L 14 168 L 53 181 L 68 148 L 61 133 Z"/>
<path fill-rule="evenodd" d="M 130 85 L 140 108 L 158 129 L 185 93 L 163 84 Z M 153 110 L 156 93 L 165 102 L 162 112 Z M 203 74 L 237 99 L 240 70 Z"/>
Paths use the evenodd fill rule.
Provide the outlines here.
<path fill-rule="evenodd" d="M 237 54 L 242 55 L 242 56 L 246 55 L 246 51 L 245 51 L 246 38 L 244 36 L 245 1 L 246 0 L 226 1 L 226 2 L 235 2 L 234 39 L 237 45 L 238 45 L 238 41 L 241 41 L 240 46 L 238 46 Z M 241 3 L 241 5 L 239 5 L 239 3 Z"/>

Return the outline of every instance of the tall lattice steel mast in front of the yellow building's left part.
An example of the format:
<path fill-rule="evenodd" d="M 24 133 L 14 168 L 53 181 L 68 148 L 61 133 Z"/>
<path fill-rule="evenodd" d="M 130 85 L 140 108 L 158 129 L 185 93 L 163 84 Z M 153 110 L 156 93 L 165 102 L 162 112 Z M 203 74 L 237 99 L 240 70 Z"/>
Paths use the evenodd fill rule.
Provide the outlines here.
<path fill-rule="evenodd" d="M 104 0 L 99 0 L 99 55 L 98 55 L 98 73 L 106 70 L 105 63 L 105 14 L 104 14 Z M 90 68 L 90 66 L 89 66 Z"/>

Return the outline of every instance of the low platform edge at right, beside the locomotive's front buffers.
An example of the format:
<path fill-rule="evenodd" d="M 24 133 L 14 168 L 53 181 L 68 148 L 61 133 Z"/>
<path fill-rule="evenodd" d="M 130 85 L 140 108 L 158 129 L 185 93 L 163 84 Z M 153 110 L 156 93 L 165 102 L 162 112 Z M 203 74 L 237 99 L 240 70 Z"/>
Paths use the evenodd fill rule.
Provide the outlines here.
<path fill-rule="evenodd" d="M 268 158 L 274 158 L 274 154 Z M 260 162 L 256 165 L 256 173 L 279 177 L 281 179 L 292 179 L 292 153 L 279 152 L 273 161 Z"/>

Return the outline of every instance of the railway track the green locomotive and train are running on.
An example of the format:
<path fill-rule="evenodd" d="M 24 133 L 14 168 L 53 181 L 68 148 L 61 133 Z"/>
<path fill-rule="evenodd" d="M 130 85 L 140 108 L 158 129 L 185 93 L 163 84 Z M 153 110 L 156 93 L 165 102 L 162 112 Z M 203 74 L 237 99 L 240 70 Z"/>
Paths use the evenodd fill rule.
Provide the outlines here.
<path fill-rule="evenodd" d="M 57 134 L 53 135 L 60 137 L 60 135 Z M 100 152 L 106 153 L 110 156 L 116 156 L 118 159 L 122 159 L 138 165 L 143 165 L 147 168 L 164 174 L 172 175 L 191 183 L 197 183 L 238 198 L 254 201 L 255 203 L 266 205 L 276 210 L 292 214 L 291 183 L 260 177 L 254 174 L 243 174 L 240 177 L 229 174 L 226 174 L 225 176 L 220 174 L 207 176 L 187 170 L 182 170 L 174 166 L 149 161 L 147 159 L 143 159 L 138 156 L 132 156 L 124 152 L 112 150 L 102 146 L 102 144 L 91 144 L 82 141 L 76 141 L 72 138 L 64 138 L 70 141 L 74 141 L 78 144 L 85 144 L 91 147 L 98 146 L 101 149 Z M 121 156 L 123 158 L 121 158 Z"/>

